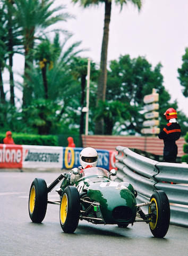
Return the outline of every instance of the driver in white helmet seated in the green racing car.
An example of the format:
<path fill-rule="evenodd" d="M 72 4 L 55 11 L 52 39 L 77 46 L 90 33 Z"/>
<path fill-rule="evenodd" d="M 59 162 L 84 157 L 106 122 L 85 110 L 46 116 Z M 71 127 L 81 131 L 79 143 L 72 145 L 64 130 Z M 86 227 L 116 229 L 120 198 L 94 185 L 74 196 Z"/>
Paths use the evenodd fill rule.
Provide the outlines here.
<path fill-rule="evenodd" d="M 81 166 L 78 167 L 80 174 L 73 174 L 71 172 L 71 182 L 75 182 L 82 177 L 83 170 L 89 167 L 96 167 L 98 161 L 98 153 L 94 148 L 87 147 L 82 149 L 80 153 Z"/>

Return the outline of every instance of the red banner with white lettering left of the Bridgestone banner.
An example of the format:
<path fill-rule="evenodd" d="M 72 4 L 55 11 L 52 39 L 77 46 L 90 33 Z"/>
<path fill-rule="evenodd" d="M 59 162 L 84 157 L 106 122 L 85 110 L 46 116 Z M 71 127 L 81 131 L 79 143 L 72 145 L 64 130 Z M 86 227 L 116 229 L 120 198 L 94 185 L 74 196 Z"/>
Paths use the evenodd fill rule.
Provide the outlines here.
<path fill-rule="evenodd" d="M 22 145 L 0 144 L 0 168 L 21 168 Z"/>

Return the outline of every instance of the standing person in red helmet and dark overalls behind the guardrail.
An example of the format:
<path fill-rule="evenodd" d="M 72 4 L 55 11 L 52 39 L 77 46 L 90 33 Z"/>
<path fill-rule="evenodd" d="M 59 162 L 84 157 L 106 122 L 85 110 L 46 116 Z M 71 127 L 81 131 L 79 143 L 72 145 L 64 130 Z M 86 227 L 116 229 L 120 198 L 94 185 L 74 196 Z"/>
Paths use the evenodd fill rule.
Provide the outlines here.
<path fill-rule="evenodd" d="M 175 163 L 177 156 L 176 140 L 180 139 L 181 127 L 177 123 L 177 112 L 174 108 L 168 108 L 164 115 L 168 123 L 158 134 L 159 139 L 164 140 L 163 161 Z"/>

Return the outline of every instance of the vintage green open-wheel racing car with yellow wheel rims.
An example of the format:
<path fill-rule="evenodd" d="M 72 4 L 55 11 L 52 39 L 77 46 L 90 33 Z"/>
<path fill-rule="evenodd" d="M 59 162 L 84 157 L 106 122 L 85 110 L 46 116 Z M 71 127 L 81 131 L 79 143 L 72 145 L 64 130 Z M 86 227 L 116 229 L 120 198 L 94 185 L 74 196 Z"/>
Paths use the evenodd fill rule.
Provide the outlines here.
<path fill-rule="evenodd" d="M 170 208 L 164 191 L 153 191 L 150 201 L 136 203 L 136 191 L 128 182 L 113 181 L 116 170 L 89 167 L 62 173 L 48 187 L 44 179 L 33 180 L 29 193 L 29 215 L 32 222 L 45 218 L 47 204 L 58 204 L 60 224 L 65 233 L 74 233 L 79 220 L 95 224 L 114 224 L 126 228 L 136 221 L 149 224 L 155 237 L 164 237 L 168 231 Z M 49 201 L 48 193 L 61 182 L 56 191 L 59 201 Z M 141 210 L 148 205 L 148 213 Z"/>

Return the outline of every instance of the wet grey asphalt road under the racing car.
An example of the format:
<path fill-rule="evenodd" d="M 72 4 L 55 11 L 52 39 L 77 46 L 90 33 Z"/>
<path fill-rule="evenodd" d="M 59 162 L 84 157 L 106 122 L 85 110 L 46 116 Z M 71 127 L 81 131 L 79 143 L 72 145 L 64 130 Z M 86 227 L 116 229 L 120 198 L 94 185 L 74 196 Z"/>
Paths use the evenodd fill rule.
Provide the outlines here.
<path fill-rule="evenodd" d="M 48 204 L 41 224 L 32 223 L 28 213 L 29 189 L 33 179 L 49 185 L 59 173 L 0 172 L 0 255 L 163 255 L 186 256 L 188 229 L 170 226 L 165 238 L 154 238 L 146 223 L 122 229 L 80 221 L 74 234 L 63 233 L 59 206 Z M 58 186 L 57 186 L 58 187 Z M 58 199 L 53 190 L 50 199 Z"/>

